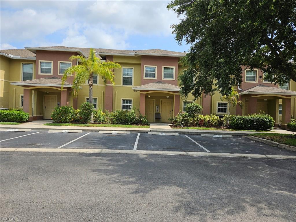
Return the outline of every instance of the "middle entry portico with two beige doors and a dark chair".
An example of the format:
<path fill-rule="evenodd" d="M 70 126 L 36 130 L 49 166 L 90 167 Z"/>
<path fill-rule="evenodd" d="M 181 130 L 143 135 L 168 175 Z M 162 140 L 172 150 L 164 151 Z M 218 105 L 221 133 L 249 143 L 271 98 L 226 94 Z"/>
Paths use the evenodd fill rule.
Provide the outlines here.
<path fill-rule="evenodd" d="M 155 113 L 160 113 L 162 122 L 177 115 L 180 109 L 180 88 L 178 86 L 157 81 L 132 88 L 140 91 L 140 112 L 154 122 Z"/>

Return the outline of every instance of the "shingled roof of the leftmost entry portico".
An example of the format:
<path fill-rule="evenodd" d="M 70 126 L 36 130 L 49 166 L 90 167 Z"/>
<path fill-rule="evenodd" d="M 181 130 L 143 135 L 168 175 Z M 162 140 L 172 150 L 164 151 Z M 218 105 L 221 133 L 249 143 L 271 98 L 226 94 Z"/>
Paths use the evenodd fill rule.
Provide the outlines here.
<path fill-rule="evenodd" d="M 12 82 L 11 85 L 16 86 L 56 86 L 56 87 L 62 87 L 62 80 L 60 78 L 57 78 L 55 76 L 48 77 L 48 78 L 40 78 L 40 79 L 32 79 L 32 80 L 26 80 L 26 81 L 20 81 L 20 82 Z M 71 87 L 71 83 L 68 83 L 65 81 L 65 84 L 63 87 Z"/>

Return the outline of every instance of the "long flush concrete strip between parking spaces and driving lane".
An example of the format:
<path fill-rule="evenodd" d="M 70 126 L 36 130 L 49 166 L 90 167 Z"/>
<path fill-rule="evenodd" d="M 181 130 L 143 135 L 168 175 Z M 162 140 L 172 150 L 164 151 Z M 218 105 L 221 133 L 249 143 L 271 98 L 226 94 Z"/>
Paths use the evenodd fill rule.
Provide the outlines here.
<path fill-rule="evenodd" d="M 66 152 L 66 153 L 104 153 L 104 154 L 182 155 L 182 156 L 244 157 L 244 158 L 268 158 L 268 159 L 291 159 L 291 160 L 296 160 L 296 156 L 288 156 L 288 155 L 178 152 L 178 151 L 154 151 L 154 150 L 0 148 L 0 151 L 1 152 Z"/>

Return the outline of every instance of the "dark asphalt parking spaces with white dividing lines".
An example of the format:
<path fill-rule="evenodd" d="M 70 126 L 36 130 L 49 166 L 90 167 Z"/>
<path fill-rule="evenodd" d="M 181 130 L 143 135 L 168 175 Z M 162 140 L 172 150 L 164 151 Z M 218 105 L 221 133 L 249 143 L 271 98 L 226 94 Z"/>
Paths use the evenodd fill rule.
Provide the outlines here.
<path fill-rule="evenodd" d="M 137 139 L 138 138 L 138 139 Z M 5 148 L 123 149 L 183 152 L 220 152 L 265 155 L 295 155 L 245 137 L 163 136 L 147 133 L 105 134 L 98 132 L 50 133 L 47 131 L 0 132 Z"/>

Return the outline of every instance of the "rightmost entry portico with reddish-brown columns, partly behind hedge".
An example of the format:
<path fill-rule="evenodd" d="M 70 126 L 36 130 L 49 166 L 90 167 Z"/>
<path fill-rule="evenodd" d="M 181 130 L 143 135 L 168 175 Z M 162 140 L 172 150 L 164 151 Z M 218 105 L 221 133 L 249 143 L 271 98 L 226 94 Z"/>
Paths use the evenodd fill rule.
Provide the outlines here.
<path fill-rule="evenodd" d="M 287 128 L 287 124 L 291 121 L 291 99 L 292 96 L 296 96 L 295 91 L 260 84 L 242 91 L 239 95 L 244 106 L 243 110 L 237 108 L 237 114 L 249 115 L 263 111 L 274 118 L 276 127 L 279 126 L 279 100 L 281 99 L 281 128 Z"/>

